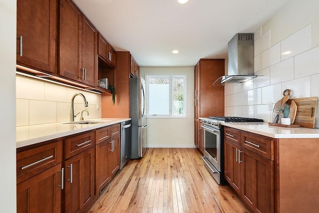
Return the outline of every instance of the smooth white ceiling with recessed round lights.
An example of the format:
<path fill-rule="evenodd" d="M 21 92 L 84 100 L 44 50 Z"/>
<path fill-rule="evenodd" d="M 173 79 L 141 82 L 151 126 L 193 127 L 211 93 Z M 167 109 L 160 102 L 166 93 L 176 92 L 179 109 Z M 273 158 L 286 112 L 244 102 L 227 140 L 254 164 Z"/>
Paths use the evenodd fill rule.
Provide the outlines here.
<path fill-rule="evenodd" d="M 141 67 L 226 58 L 237 32 L 255 32 L 290 0 L 74 0 L 117 51 Z M 179 50 L 178 54 L 171 53 Z"/>

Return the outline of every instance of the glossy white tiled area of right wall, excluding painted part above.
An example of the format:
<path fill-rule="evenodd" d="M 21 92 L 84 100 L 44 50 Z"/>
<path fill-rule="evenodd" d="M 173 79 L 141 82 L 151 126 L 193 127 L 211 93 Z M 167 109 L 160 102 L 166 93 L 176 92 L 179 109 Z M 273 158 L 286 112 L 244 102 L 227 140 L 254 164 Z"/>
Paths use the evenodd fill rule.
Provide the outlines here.
<path fill-rule="evenodd" d="M 258 77 L 225 84 L 225 115 L 271 122 L 272 106 L 290 89 L 290 98 L 319 97 L 319 46 L 312 48 L 311 24 L 270 46 L 271 30 L 255 33 L 254 69 Z M 316 128 L 319 128 L 318 110 Z"/>

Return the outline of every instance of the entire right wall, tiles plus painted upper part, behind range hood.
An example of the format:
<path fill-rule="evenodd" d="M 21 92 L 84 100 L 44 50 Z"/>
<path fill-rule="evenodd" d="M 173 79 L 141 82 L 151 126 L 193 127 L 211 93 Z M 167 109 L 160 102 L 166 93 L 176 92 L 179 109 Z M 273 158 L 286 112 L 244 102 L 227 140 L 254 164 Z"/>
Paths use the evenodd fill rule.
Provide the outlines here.
<path fill-rule="evenodd" d="M 319 97 L 319 1 L 293 0 L 255 32 L 255 75 L 242 84 L 225 85 L 225 115 L 271 121 L 268 102 Z M 290 54 L 283 54 L 290 51 Z M 318 114 L 318 110 L 317 110 Z M 317 115 L 316 128 L 319 128 Z"/>

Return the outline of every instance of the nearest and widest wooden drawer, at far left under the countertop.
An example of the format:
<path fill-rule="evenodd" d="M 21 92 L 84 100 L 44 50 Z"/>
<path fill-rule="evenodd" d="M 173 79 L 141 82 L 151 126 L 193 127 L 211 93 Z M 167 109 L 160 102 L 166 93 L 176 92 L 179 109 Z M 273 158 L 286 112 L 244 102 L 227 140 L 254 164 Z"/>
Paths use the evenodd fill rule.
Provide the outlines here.
<path fill-rule="evenodd" d="M 16 177 L 20 183 L 62 162 L 62 141 L 16 154 Z"/>

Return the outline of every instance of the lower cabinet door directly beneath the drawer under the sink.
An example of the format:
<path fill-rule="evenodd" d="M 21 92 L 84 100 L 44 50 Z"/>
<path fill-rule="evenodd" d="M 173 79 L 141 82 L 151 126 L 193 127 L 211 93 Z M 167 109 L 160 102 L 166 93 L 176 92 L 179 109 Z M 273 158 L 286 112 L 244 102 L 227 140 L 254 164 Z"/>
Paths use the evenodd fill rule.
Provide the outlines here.
<path fill-rule="evenodd" d="M 65 161 L 65 212 L 84 211 L 94 200 L 95 150 L 90 148 Z"/>

